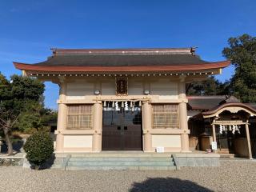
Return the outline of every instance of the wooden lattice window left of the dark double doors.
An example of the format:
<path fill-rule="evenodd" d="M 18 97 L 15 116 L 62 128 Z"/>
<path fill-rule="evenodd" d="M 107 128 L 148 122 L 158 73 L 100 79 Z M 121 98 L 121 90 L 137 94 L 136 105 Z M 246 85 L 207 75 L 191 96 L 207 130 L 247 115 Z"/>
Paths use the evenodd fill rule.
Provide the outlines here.
<path fill-rule="evenodd" d="M 93 105 L 67 106 L 67 130 L 86 130 L 92 128 Z"/>

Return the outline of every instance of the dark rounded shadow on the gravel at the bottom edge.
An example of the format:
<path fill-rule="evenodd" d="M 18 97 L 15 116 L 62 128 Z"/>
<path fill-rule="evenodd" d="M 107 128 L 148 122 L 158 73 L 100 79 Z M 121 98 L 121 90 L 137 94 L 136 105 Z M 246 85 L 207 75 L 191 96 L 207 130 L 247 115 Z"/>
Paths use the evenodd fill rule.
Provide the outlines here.
<path fill-rule="evenodd" d="M 144 182 L 134 182 L 130 192 L 138 191 L 162 191 L 162 192 L 181 192 L 181 191 L 206 191 L 209 190 L 203 186 L 198 186 L 195 182 L 190 182 L 188 180 L 181 180 L 179 178 L 148 178 Z"/>

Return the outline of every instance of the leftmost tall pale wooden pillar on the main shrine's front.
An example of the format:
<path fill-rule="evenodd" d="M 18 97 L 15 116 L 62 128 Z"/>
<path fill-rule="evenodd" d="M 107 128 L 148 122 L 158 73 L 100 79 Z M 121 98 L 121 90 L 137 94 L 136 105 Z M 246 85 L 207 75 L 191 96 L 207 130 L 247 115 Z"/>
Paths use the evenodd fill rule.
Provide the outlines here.
<path fill-rule="evenodd" d="M 62 130 L 66 129 L 66 82 L 64 78 L 60 78 L 59 83 L 59 99 L 58 99 L 58 122 L 56 135 L 56 152 L 63 152 L 64 135 Z"/>

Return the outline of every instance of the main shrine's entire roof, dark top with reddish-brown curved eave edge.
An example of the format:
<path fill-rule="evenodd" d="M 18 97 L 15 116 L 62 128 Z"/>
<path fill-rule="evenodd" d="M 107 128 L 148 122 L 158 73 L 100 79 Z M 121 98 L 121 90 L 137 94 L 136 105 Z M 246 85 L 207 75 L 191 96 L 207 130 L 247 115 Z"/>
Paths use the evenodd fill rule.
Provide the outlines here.
<path fill-rule="evenodd" d="M 194 48 L 53 49 L 53 55 L 44 62 L 14 65 L 35 72 L 188 72 L 220 69 L 230 61 L 206 62 L 194 54 Z"/>

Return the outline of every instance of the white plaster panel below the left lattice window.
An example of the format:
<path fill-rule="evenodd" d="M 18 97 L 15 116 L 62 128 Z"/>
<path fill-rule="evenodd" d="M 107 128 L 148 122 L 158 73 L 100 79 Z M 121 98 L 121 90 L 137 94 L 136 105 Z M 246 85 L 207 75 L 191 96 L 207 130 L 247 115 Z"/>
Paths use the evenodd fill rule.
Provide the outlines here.
<path fill-rule="evenodd" d="M 92 135 L 64 135 L 64 148 L 92 147 Z"/>

